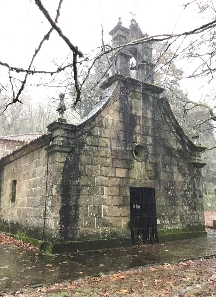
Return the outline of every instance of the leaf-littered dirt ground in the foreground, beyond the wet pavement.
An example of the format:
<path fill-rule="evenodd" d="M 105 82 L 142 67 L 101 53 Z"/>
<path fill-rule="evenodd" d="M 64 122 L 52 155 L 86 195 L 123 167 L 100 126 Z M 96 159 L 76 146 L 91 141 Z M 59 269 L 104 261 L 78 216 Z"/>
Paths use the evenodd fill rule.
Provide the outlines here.
<path fill-rule="evenodd" d="M 59 284 L 25 288 L 1 296 L 17 297 L 216 297 L 216 259 L 164 263 L 100 277 L 85 277 Z"/>

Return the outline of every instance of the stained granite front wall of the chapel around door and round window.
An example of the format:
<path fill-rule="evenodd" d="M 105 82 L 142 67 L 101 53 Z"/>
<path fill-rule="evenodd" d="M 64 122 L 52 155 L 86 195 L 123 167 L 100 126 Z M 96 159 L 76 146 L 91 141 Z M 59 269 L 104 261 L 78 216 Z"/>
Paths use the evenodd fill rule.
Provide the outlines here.
<path fill-rule="evenodd" d="M 158 233 L 204 231 L 201 169 L 192 164 L 196 152 L 163 115 L 157 94 L 137 87 L 117 100 L 121 93 L 115 90 L 112 108 L 66 133 L 74 150 L 61 181 L 61 239 L 129 238 L 129 187 L 155 188 Z M 144 146 L 143 161 L 132 154 L 135 143 Z"/>

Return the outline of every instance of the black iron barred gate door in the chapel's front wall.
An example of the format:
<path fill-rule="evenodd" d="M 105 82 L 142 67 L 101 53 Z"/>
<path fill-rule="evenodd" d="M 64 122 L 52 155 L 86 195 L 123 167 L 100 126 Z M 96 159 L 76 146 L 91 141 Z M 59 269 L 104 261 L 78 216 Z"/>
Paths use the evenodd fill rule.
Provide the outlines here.
<path fill-rule="evenodd" d="M 131 238 L 134 244 L 158 242 L 155 189 L 130 187 Z"/>

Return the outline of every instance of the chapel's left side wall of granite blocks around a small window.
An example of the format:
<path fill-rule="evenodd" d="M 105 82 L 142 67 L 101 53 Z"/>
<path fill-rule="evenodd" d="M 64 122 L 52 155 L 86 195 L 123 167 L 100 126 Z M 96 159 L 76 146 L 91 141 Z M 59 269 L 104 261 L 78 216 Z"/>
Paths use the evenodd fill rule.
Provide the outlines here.
<path fill-rule="evenodd" d="M 43 147 L 49 138 L 45 135 L 1 160 L 2 231 L 25 232 L 42 238 L 47 183 L 47 153 Z M 11 200 L 13 181 L 16 181 L 15 202 Z"/>

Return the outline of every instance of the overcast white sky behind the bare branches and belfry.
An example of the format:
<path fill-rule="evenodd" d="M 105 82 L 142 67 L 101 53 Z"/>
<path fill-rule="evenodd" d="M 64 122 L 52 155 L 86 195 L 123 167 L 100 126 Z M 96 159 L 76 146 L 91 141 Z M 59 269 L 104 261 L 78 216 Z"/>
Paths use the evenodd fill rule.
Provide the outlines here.
<path fill-rule="evenodd" d="M 198 14 L 195 3 L 182 12 L 182 4 L 187 2 L 188 0 L 64 0 L 58 25 L 74 45 L 83 53 L 88 53 L 101 45 L 101 22 L 104 26 L 104 39 L 109 42 L 108 32 L 117 24 L 118 17 L 121 17 L 123 26 L 129 26 L 131 10 L 136 14 L 142 31 L 149 35 L 172 33 L 173 29 L 175 33 L 180 33 L 209 22 L 212 15 Z M 42 0 L 42 3 L 54 19 L 58 0 Z M 12 66 L 27 68 L 35 47 L 50 29 L 50 24 L 34 0 L 1 0 L 0 5 L 0 60 Z M 36 57 L 34 66 L 37 70 L 56 70 L 52 61 L 64 61 L 69 52 L 66 43 L 53 31 L 50 40 L 44 43 Z M 4 79 L 7 79 L 7 69 L 0 67 L 0 81 Z M 47 76 L 47 81 L 49 80 L 50 76 Z M 27 84 L 38 81 L 39 78 L 33 76 L 28 78 Z M 191 99 L 201 95 L 198 80 L 185 81 L 184 84 Z M 26 92 L 35 100 L 37 97 L 57 97 L 59 89 L 27 87 Z"/>

